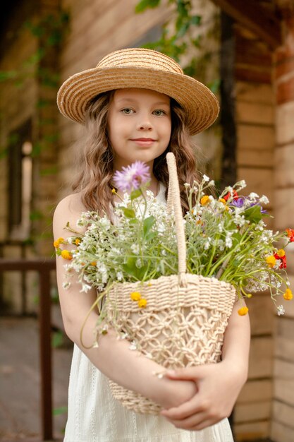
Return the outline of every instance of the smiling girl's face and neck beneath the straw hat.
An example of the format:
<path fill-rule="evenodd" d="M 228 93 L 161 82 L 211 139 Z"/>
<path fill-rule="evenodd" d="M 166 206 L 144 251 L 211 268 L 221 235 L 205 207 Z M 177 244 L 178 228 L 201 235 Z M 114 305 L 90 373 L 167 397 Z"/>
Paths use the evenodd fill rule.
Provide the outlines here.
<path fill-rule="evenodd" d="M 108 114 L 114 169 L 136 160 L 147 162 L 164 153 L 171 138 L 170 97 L 148 89 L 118 89 Z"/>

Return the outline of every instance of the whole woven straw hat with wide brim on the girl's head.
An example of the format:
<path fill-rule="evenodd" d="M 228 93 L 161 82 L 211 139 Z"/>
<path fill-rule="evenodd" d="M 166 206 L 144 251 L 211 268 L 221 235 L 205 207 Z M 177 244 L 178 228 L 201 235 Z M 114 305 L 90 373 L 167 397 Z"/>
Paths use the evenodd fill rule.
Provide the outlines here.
<path fill-rule="evenodd" d="M 107 90 L 144 88 L 169 95 L 184 109 L 191 135 L 207 129 L 219 114 L 214 94 L 184 75 L 169 56 L 150 49 L 128 48 L 104 56 L 96 68 L 76 73 L 61 85 L 61 114 L 83 124 L 88 102 Z"/>

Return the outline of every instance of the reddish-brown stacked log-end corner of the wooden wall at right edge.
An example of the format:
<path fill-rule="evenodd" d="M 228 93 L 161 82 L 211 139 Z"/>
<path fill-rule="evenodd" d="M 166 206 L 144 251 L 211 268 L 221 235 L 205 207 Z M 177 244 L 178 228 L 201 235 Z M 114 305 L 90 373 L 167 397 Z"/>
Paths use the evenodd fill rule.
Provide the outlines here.
<path fill-rule="evenodd" d="M 274 58 L 276 147 L 274 196 L 277 229 L 294 226 L 294 5 L 280 1 L 284 14 L 283 46 Z M 288 5 L 288 6 L 287 6 Z M 290 283 L 294 284 L 294 244 L 287 253 Z M 281 302 L 285 316 L 276 318 L 274 345 L 274 400 L 271 437 L 294 441 L 294 303 Z M 281 320 L 280 320 L 281 319 Z"/>

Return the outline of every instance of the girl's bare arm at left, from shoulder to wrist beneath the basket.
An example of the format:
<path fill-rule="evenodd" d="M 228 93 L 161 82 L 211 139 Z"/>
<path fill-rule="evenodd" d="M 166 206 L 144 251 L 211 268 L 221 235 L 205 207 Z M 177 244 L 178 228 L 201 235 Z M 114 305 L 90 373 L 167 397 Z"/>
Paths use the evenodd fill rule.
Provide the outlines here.
<path fill-rule="evenodd" d="M 69 222 L 76 229 L 76 221 L 85 208 L 77 195 L 64 198 L 54 213 L 54 239 L 71 236 L 64 227 Z M 69 247 L 66 246 L 66 249 Z M 71 278 L 71 287 L 63 288 L 64 264 L 61 256 L 56 257 L 57 282 L 63 323 L 68 337 L 80 347 L 92 364 L 108 378 L 116 383 L 134 390 L 145 397 L 154 400 L 162 407 L 169 409 L 189 400 L 196 392 L 193 381 L 159 379 L 155 372 L 164 371 L 156 362 L 142 356 L 140 352 L 129 349 L 130 342 L 117 340 L 114 330 L 99 338 L 99 347 L 86 349 L 80 342 L 80 330 L 85 322 L 87 313 L 96 299 L 94 289 L 80 292 L 81 286 L 75 275 Z M 98 314 L 93 310 L 85 323 L 82 332 L 82 342 L 90 347 L 94 342 L 93 330 L 97 323 Z"/>

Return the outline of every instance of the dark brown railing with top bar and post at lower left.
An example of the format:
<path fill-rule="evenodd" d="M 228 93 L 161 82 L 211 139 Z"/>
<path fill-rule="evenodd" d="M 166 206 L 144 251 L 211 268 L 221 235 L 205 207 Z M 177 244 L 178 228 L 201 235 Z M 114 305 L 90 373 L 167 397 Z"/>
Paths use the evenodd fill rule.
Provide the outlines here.
<path fill-rule="evenodd" d="M 39 274 L 38 319 L 42 441 L 51 441 L 53 438 L 50 273 L 55 268 L 55 259 L 0 259 L 0 273 L 35 271 Z"/>

